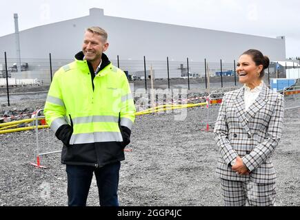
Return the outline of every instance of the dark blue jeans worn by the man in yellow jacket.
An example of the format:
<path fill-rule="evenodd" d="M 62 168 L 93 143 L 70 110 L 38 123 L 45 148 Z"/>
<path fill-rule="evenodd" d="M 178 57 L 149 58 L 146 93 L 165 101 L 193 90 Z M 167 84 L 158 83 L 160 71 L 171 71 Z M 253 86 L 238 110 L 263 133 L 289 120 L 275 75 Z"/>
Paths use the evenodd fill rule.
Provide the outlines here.
<path fill-rule="evenodd" d="M 120 162 L 101 168 L 66 165 L 68 206 L 86 206 L 93 173 L 96 176 L 100 206 L 119 206 L 117 191 L 120 166 Z"/>

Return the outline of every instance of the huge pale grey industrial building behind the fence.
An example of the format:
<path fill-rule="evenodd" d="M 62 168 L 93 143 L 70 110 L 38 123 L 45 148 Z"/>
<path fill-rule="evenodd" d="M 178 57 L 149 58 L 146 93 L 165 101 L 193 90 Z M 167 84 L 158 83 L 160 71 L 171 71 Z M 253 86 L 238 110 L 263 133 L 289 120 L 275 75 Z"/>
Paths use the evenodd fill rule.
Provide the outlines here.
<path fill-rule="evenodd" d="M 111 17 L 104 15 L 103 9 L 91 8 L 86 17 L 1 36 L 0 64 L 3 64 L 2 54 L 7 52 L 11 66 L 18 63 L 19 66 L 26 65 L 20 77 L 37 76 L 39 80 L 50 82 L 50 53 L 52 71 L 55 72 L 61 65 L 71 62 L 74 54 L 81 50 L 84 30 L 93 25 L 108 32 L 110 47 L 106 54 L 112 63 L 117 66 L 119 56 L 121 69 L 141 77 L 144 69 L 148 74 L 152 66 L 156 78 L 166 78 L 167 56 L 171 78 L 187 76 L 187 58 L 190 76 L 203 76 L 204 59 L 209 63 L 212 74 L 220 71 L 220 60 L 223 61 L 223 71 L 232 71 L 233 61 L 250 48 L 261 50 L 272 61 L 286 60 L 284 36 L 270 38 Z M 18 76 L 12 73 L 12 77 Z"/>

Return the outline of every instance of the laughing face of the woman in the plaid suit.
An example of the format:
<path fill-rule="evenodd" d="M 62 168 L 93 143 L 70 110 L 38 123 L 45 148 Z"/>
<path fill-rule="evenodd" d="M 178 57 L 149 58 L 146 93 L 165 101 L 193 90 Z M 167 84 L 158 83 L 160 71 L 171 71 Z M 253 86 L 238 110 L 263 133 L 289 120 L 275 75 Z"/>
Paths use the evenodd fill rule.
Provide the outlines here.
<path fill-rule="evenodd" d="M 261 78 L 257 76 L 263 69 L 263 65 L 256 65 L 252 57 L 248 54 L 243 54 L 239 57 L 237 63 L 237 74 L 239 75 L 239 83 L 246 83 L 248 87 L 257 86 L 261 82 Z"/>

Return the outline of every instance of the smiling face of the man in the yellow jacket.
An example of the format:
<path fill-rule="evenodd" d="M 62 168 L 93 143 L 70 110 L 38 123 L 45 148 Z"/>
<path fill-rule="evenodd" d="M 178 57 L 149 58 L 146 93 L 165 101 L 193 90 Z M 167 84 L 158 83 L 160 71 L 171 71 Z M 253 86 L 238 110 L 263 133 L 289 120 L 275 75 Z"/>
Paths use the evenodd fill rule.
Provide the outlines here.
<path fill-rule="evenodd" d="M 102 52 L 107 49 L 108 43 L 104 42 L 102 36 L 88 31 L 84 34 L 82 52 L 87 61 L 100 62 Z"/>

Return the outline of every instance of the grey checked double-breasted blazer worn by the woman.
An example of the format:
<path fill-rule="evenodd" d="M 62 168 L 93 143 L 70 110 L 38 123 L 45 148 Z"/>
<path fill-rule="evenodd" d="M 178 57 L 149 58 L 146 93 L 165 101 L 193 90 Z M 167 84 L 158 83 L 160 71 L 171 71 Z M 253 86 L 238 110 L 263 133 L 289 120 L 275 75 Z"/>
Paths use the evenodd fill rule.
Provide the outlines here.
<path fill-rule="evenodd" d="M 252 180 L 261 184 L 275 181 L 271 157 L 281 138 L 283 109 L 283 96 L 265 84 L 247 111 L 244 87 L 224 94 L 214 125 L 214 140 L 221 154 L 217 163 L 220 178 Z M 243 159 L 250 175 L 238 175 L 232 171 L 230 162 L 237 155 Z"/>

